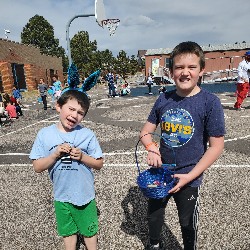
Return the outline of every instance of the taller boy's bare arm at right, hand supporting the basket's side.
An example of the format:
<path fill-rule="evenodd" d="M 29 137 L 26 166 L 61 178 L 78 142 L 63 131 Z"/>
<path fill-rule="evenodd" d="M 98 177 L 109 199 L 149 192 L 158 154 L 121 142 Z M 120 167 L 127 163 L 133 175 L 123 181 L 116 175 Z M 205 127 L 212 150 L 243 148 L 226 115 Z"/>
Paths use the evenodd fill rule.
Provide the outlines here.
<path fill-rule="evenodd" d="M 174 177 L 178 179 L 178 183 L 172 188 L 169 193 L 178 192 L 183 186 L 201 175 L 207 168 L 209 168 L 221 155 L 224 148 L 224 136 L 210 137 L 209 148 L 202 156 L 200 161 L 188 174 L 175 174 Z"/>

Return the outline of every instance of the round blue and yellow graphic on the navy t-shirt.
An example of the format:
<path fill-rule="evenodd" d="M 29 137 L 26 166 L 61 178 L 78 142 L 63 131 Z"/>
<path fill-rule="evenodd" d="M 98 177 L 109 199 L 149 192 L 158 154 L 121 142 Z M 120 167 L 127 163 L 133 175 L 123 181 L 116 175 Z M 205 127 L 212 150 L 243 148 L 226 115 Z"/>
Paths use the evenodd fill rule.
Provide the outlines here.
<path fill-rule="evenodd" d="M 181 147 L 194 134 L 194 121 L 185 109 L 167 110 L 161 117 L 161 130 L 165 142 L 171 147 Z"/>

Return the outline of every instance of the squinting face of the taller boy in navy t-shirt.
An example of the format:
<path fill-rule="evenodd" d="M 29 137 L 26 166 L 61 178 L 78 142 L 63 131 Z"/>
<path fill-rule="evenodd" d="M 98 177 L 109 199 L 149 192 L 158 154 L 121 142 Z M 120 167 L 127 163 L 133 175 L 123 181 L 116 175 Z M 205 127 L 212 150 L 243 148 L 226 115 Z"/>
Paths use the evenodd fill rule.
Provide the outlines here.
<path fill-rule="evenodd" d="M 192 96 L 200 91 L 197 86 L 204 69 L 200 68 L 200 58 L 195 54 L 181 54 L 174 57 L 172 78 L 175 81 L 177 94 Z"/>

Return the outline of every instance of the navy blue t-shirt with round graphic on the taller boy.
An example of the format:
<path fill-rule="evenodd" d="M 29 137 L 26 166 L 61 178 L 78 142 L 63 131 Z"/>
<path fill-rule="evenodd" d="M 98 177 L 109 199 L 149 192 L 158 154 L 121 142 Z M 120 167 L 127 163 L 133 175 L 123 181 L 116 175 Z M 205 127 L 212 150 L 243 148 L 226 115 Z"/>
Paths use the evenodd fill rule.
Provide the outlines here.
<path fill-rule="evenodd" d="M 162 161 L 176 163 L 176 173 L 190 172 L 205 153 L 208 138 L 225 134 L 220 100 L 203 89 L 190 97 L 180 97 L 176 90 L 161 94 L 148 122 L 160 124 Z M 202 175 L 190 185 L 199 186 L 201 182 Z"/>

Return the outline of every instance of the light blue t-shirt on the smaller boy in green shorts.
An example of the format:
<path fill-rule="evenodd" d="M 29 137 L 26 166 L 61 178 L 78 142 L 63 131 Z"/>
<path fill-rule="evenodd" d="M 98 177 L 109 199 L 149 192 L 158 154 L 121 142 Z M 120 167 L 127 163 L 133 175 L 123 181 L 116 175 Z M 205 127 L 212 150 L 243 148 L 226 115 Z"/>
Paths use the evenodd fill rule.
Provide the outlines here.
<path fill-rule="evenodd" d="M 90 129 L 79 125 L 74 131 L 63 133 L 54 124 L 38 132 L 29 157 L 32 160 L 47 157 L 62 143 L 80 148 L 95 159 L 103 156 L 97 138 Z M 95 198 L 92 169 L 83 163 L 62 157 L 48 171 L 53 182 L 54 200 L 82 206 Z"/>

